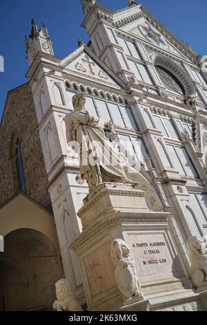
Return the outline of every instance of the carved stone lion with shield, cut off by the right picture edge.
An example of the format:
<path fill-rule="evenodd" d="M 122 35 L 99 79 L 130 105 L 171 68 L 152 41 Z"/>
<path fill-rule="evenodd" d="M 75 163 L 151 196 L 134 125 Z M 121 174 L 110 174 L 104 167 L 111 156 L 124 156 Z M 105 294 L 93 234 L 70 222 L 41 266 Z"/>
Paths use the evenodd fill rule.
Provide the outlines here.
<path fill-rule="evenodd" d="M 193 236 L 188 239 L 188 252 L 191 261 L 191 280 L 195 288 L 207 285 L 207 249 L 202 239 Z"/>

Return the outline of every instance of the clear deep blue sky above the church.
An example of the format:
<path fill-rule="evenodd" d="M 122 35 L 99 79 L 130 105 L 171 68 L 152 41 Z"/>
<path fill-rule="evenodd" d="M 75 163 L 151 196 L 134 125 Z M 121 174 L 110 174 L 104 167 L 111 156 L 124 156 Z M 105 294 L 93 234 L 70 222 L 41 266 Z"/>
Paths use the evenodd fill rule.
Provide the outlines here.
<path fill-rule="evenodd" d="M 80 3 L 80 0 L 0 0 L 0 55 L 5 59 L 5 72 L 0 73 L 0 116 L 7 92 L 27 81 L 24 35 L 30 33 L 31 18 L 39 25 L 46 24 L 55 55 L 66 57 L 77 48 L 77 39 L 88 42 L 86 30 L 80 27 L 84 18 Z M 128 0 L 99 0 L 99 3 L 112 10 L 128 6 Z M 198 54 L 207 55 L 206 0 L 143 0 L 141 3 Z"/>

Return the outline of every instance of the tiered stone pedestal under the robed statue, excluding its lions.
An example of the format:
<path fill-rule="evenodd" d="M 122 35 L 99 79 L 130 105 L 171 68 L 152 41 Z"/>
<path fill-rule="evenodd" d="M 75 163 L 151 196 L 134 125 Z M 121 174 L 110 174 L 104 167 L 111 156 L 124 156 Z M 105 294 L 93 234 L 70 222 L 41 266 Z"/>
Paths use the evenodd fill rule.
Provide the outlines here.
<path fill-rule="evenodd" d="M 175 305 L 197 299 L 175 218 L 149 210 L 143 191 L 103 183 L 85 199 L 78 215 L 83 232 L 70 248 L 81 262 L 88 310 L 161 310 L 171 300 Z M 130 248 L 144 294 L 141 301 L 126 301 L 117 287 L 110 256 L 115 239 L 123 239 Z"/>

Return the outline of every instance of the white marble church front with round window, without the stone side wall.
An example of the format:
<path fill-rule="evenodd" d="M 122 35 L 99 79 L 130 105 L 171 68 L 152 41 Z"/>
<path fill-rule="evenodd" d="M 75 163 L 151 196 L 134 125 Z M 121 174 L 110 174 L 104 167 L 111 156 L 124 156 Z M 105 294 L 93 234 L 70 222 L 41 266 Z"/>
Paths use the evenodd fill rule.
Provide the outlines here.
<path fill-rule="evenodd" d="M 59 59 L 46 29 L 38 28 L 27 43 L 63 266 L 80 301 L 81 271 L 68 245 L 82 230 L 77 211 L 88 187 L 79 179 L 77 155 L 66 143 L 63 121 L 77 91 L 87 93 L 86 109 L 111 121 L 119 141 L 141 162 L 141 189 L 150 186 L 150 210 L 175 215 L 182 250 L 190 236 L 207 236 L 207 82 L 197 55 L 143 6 L 132 1 L 125 10 L 111 12 L 91 2 L 82 24 L 89 46 L 79 42 L 75 52 Z M 187 105 L 192 96 L 195 103 Z M 108 129 L 106 134 L 110 136 Z"/>

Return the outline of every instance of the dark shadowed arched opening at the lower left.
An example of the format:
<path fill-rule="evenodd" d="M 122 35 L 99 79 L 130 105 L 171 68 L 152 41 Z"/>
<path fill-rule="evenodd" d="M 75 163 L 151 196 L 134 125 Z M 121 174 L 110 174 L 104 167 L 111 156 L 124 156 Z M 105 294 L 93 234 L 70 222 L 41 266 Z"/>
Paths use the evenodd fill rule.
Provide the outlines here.
<path fill-rule="evenodd" d="M 0 310 L 48 310 L 55 301 L 55 282 L 63 277 L 59 252 L 45 234 L 14 230 L 0 254 Z"/>

